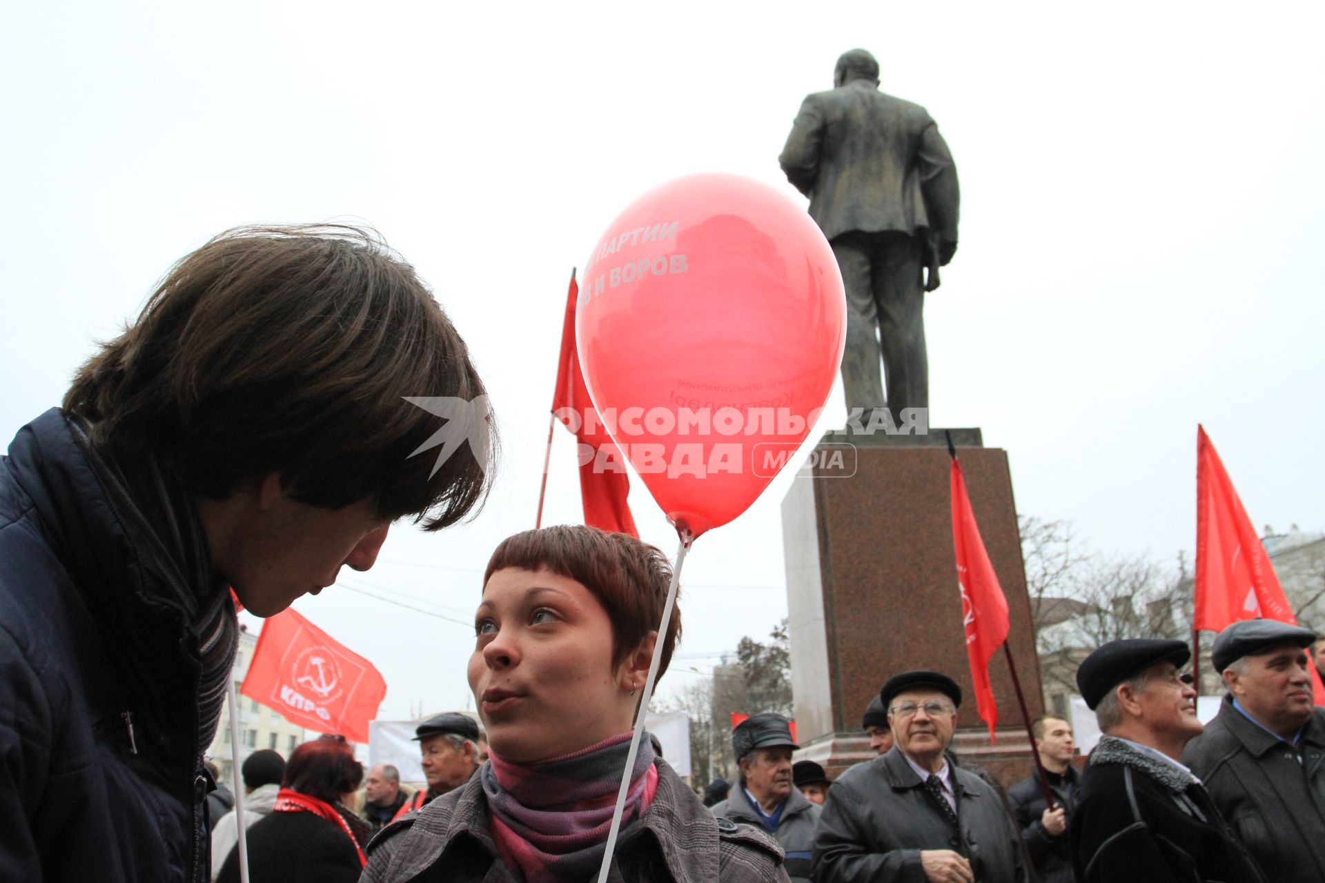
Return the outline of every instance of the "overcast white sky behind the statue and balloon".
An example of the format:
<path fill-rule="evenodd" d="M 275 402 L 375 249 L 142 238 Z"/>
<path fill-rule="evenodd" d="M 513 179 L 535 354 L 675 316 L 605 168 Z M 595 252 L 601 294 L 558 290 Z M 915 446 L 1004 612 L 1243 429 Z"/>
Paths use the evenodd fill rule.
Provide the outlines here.
<path fill-rule="evenodd" d="M 812 8 L 816 12 L 810 12 Z M 939 12 L 939 9 L 942 12 Z M 297 604 L 368 657 L 383 718 L 472 707 L 492 548 L 533 526 L 566 282 L 644 189 L 799 195 L 778 152 L 837 56 L 925 105 L 962 183 L 926 311 L 931 424 L 1008 451 L 1018 508 L 1094 548 L 1195 535 L 1202 421 L 1257 526 L 1325 528 L 1318 5 L 26 3 L 0 29 L 0 434 L 209 236 L 358 218 L 436 289 L 505 441 L 484 512 L 396 528 Z M 822 429 L 844 417 L 840 392 Z M 790 475 L 696 543 L 673 674 L 786 613 Z M 559 432 L 547 522 L 579 520 Z M 647 540 L 676 537 L 636 483 Z M 419 613 L 350 590 L 355 586 Z M 457 620 L 440 618 L 437 614 Z M 905 624 L 880 624 L 905 627 Z"/>

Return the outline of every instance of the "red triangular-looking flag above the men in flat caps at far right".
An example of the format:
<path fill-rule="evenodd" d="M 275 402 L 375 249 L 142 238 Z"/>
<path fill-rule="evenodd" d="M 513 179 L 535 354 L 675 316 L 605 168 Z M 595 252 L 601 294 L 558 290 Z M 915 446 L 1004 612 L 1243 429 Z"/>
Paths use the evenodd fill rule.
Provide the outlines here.
<path fill-rule="evenodd" d="M 1297 625 L 1269 555 L 1247 518 L 1238 491 L 1215 446 L 1196 426 L 1196 630 L 1223 631 L 1239 620 L 1275 620 Z M 1308 666 L 1316 704 L 1325 706 L 1325 686 Z"/>

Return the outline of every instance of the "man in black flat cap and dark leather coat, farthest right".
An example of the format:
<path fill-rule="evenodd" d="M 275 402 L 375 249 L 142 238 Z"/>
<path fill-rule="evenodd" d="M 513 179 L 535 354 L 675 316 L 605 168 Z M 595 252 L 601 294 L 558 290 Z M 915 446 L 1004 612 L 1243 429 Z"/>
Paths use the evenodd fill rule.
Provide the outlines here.
<path fill-rule="evenodd" d="M 1271 880 L 1325 880 L 1325 710 L 1312 702 L 1316 634 L 1272 620 L 1224 629 L 1224 695 L 1183 763 Z"/>

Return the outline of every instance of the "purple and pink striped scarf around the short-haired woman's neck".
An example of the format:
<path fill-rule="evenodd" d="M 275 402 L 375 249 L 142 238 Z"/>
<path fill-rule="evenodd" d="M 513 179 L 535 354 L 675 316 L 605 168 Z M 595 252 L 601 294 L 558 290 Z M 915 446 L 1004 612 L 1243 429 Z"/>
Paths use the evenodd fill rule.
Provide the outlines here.
<path fill-rule="evenodd" d="M 481 777 L 493 839 L 506 866 L 518 867 L 526 883 L 580 883 L 602 866 L 631 735 L 537 764 L 507 763 L 489 749 Z M 653 802 L 655 757 L 644 733 L 625 794 L 623 831 Z"/>

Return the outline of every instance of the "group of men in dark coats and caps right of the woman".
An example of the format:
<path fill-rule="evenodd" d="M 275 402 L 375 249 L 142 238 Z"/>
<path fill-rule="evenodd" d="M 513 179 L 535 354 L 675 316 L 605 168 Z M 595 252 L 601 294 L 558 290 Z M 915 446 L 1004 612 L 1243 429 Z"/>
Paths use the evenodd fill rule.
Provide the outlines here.
<path fill-rule="evenodd" d="M 827 782 L 818 764 L 791 763 L 784 718 L 755 715 L 733 732 L 738 781 L 712 782 L 709 802 L 776 837 L 792 880 L 1325 879 L 1314 641 L 1268 620 L 1220 633 L 1212 662 L 1227 692 L 1208 727 L 1186 643 L 1109 642 L 1077 674 L 1098 744 L 1077 756 L 1071 721 L 1043 715 L 1036 763 L 1006 790 L 951 749 L 958 684 L 902 673 L 861 721 L 874 760 Z"/>

